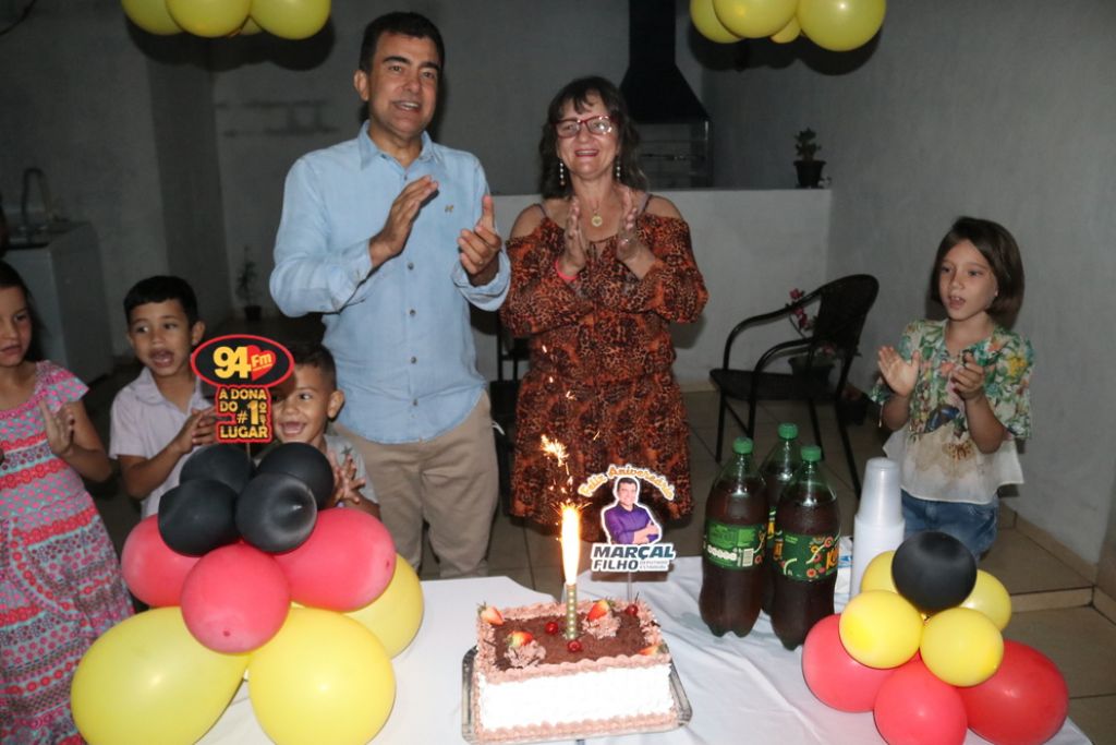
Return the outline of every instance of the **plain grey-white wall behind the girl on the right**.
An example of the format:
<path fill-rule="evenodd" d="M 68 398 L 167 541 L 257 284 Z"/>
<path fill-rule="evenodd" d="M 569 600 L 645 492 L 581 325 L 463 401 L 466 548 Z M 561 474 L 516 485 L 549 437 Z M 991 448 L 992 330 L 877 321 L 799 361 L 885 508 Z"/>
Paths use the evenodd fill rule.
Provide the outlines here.
<path fill-rule="evenodd" d="M 1101 438 L 1116 417 L 1114 29 L 1107 0 L 902 0 L 862 52 L 757 42 L 748 68 L 705 77 L 714 121 L 738 123 L 718 130 L 719 185 L 789 185 L 793 133 L 818 132 L 833 176 L 828 274 L 882 283 L 866 348 L 926 313 L 930 262 L 956 216 L 1014 233 L 1028 276 L 1016 327 L 1037 363 L 1027 484 L 1011 504 L 1089 562 L 1116 468 Z"/>

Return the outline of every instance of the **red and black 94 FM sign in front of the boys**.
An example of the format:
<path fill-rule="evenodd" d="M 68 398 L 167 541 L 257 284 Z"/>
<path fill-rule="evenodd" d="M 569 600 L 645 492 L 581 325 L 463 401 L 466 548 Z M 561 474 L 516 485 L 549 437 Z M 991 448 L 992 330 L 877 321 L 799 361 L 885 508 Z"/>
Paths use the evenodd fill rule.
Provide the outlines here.
<path fill-rule="evenodd" d="M 282 344 L 263 336 L 220 336 L 194 350 L 194 374 L 217 389 L 219 442 L 270 442 L 271 394 L 295 362 Z"/>

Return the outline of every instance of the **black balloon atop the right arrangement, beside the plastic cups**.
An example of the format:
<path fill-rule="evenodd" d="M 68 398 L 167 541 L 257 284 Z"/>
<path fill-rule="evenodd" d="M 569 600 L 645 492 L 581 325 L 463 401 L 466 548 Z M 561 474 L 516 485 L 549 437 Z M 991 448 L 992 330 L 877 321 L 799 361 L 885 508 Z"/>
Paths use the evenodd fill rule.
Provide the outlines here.
<path fill-rule="evenodd" d="M 895 551 L 892 580 L 901 595 L 933 613 L 969 596 L 977 584 L 977 560 L 952 535 L 923 531 Z"/>

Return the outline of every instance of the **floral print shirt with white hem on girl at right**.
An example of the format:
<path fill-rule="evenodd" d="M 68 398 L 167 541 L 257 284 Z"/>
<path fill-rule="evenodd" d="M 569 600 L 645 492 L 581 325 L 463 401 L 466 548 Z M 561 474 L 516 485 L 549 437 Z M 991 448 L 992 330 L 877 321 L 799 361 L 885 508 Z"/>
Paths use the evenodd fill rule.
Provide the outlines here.
<path fill-rule="evenodd" d="M 903 332 L 898 352 L 922 364 L 911 394 L 910 420 L 884 446 L 898 460 L 903 488 L 913 496 L 939 502 L 988 504 L 1004 484 L 1021 484 L 1022 470 L 1014 438 L 1031 433 L 1030 379 L 1035 352 L 1019 334 L 997 326 L 991 336 L 962 350 L 945 346 L 945 321 L 915 321 Z M 969 434 L 964 405 L 950 383 L 950 372 L 962 359 L 984 367 L 984 394 L 1009 437 L 995 452 L 983 453 Z M 869 398 L 883 403 L 892 395 L 881 380 Z"/>

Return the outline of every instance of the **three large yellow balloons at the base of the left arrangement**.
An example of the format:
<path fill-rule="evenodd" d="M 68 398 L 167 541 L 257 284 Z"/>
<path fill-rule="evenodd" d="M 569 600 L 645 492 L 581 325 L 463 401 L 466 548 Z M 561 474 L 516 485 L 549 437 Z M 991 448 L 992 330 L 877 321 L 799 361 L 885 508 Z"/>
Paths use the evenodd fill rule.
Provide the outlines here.
<path fill-rule="evenodd" d="M 267 735 L 295 743 L 366 743 L 395 700 L 391 658 L 422 623 L 422 588 L 396 556 L 387 588 L 349 613 L 295 608 L 258 649 L 213 651 L 179 606 L 155 608 L 109 629 L 74 675 L 71 705 L 90 745 L 186 745 L 221 718 L 246 669 Z"/>

